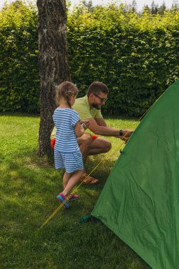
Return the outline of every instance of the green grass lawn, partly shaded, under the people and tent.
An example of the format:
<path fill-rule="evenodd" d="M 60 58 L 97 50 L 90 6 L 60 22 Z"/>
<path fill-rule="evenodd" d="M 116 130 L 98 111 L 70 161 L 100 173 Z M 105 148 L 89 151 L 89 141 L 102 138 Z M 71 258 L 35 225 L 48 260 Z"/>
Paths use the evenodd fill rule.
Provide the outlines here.
<path fill-rule="evenodd" d="M 37 156 L 39 122 L 32 115 L 0 115 L 0 268 L 149 268 L 101 222 L 79 223 L 98 200 L 119 156 L 120 139 L 110 138 L 108 154 L 88 158 L 88 172 L 103 158 L 93 172 L 100 184 L 81 185 L 80 199 L 71 202 L 70 210 L 62 208 L 39 229 L 59 206 L 63 172 Z M 107 122 L 116 128 L 137 126 L 137 121 L 120 118 Z"/>

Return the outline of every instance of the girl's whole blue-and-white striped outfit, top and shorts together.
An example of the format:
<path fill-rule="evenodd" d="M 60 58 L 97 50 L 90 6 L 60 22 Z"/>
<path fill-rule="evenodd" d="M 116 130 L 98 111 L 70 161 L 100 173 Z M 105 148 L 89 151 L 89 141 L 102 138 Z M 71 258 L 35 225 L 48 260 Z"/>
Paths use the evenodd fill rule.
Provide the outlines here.
<path fill-rule="evenodd" d="M 74 127 L 79 114 L 72 108 L 57 108 L 53 115 L 57 128 L 54 145 L 55 168 L 65 168 L 67 173 L 83 170 L 83 159 Z"/>

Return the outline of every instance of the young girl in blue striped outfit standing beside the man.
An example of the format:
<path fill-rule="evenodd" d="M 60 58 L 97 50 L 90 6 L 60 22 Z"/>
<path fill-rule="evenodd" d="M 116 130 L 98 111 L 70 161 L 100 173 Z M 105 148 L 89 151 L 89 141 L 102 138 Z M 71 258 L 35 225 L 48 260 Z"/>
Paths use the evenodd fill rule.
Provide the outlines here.
<path fill-rule="evenodd" d="M 57 128 L 54 145 L 55 168 L 65 168 L 63 177 L 64 190 L 57 195 L 60 202 L 64 202 L 74 185 L 83 175 L 83 159 L 77 143 L 77 137 L 84 133 L 84 127 L 88 127 L 89 121 L 80 121 L 79 114 L 71 108 L 74 105 L 78 88 L 71 82 L 65 81 L 57 86 L 56 100 L 59 107 L 54 110 L 53 120 Z M 81 125 L 82 123 L 82 125 Z M 79 198 L 79 195 L 71 195 L 69 200 Z M 64 202 L 64 207 L 69 208 L 69 202 Z"/>

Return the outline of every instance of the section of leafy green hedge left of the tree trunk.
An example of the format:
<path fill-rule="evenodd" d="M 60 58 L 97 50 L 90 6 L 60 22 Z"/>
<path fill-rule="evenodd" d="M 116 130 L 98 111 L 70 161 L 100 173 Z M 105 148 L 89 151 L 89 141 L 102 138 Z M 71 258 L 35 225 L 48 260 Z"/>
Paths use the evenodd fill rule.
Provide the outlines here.
<path fill-rule="evenodd" d="M 0 111 L 39 112 L 37 12 L 8 5 L 0 13 Z"/>

